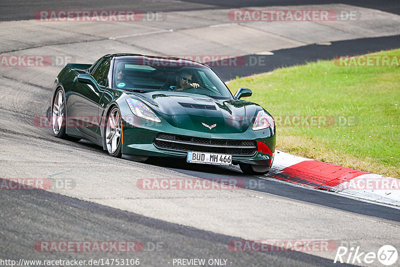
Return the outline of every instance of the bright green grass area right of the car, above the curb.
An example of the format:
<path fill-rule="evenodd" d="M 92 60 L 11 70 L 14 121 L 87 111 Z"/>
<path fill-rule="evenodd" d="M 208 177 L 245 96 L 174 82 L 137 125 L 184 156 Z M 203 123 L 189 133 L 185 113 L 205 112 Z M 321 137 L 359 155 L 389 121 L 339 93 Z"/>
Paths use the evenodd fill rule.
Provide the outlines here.
<path fill-rule="evenodd" d="M 376 54 L 400 55 L 400 49 Z M 253 95 L 246 100 L 276 118 L 278 149 L 400 177 L 400 67 L 318 61 L 236 78 L 228 86 L 232 92 L 250 88 Z M 283 115 L 349 116 L 355 121 L 343 126 L 279 125 Z"/>

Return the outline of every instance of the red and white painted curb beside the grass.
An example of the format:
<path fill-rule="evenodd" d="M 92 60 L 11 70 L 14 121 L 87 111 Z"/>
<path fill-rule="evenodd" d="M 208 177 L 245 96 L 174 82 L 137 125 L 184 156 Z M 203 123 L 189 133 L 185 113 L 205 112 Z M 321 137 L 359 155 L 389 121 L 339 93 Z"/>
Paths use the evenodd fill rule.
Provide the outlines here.
<path fill-rule="evenodd" d="M 314 189 L 400 206 L 400 179 L 275 151 L 268 176 Z"/>

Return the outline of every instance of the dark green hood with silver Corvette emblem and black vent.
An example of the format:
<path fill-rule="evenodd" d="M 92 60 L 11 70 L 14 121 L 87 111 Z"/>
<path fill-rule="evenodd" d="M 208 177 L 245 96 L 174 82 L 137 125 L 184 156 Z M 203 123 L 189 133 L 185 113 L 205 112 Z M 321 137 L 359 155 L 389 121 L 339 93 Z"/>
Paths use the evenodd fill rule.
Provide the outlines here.
<path fill-rule="evenodd" d="M 184 92 L 149 92 L 144 101 L 169 124 L 208 133 L 240 133 L 252 126 L 259 105 Z"/>

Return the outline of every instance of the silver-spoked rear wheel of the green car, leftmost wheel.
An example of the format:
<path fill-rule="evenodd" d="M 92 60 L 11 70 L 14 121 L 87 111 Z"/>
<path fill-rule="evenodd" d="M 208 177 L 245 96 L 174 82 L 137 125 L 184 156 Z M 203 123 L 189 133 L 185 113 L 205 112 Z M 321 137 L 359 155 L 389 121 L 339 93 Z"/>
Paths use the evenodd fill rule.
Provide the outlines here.
<path fill-rule="evenodd" d="M 55 137 L 71 141 L 80 140 L 80 138 L 71 137 L 65 133 L 65 95 L 61 89 L 54 94 L 51 108 L 51 128 Z"/>

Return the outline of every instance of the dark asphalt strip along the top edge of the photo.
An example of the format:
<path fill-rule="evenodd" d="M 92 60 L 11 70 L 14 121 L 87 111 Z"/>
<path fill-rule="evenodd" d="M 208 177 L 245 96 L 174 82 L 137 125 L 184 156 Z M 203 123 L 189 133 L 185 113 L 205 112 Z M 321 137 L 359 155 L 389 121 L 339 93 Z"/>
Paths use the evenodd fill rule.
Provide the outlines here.
<path fill-rule="evenodd" d="M 184 11 L 212 8 L 240 8 L 242 6 L 282 6 L 298 4 L 333 4 L 345 3 L 367 8 L 374 8 L 394 14 L 400 14 L 396 0 L 184 0 L 184 1 L 149 1 L 149 0 L 85 0 L 85 1 L 25 1 L 2 0 L 0 2 L 0 21 L 33 19 L 38 10 L 131 10 L 139 11 Z M 140 7 L 140 8 L 137 8 Z"/>

